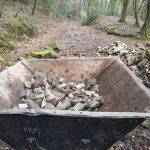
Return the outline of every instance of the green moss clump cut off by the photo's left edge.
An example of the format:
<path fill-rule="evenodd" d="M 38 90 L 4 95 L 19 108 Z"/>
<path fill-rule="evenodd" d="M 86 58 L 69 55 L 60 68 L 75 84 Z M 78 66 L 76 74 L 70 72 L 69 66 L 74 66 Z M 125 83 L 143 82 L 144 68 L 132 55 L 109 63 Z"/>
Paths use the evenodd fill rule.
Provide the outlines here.
<path fill-rule="evenodd" d="M 0 29 L 0 54 L 8 53 L 15 48 L 14 42 L 11 40 L 9 34 Z"/>

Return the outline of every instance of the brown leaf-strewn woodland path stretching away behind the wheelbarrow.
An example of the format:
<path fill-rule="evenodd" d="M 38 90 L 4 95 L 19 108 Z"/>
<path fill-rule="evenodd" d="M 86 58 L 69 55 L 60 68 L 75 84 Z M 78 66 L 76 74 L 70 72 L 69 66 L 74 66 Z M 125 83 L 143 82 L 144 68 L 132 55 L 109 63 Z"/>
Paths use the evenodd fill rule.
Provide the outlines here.
<path fill-rule="evenodd" d="M 46 31 L 45 31 L 46 30 Z M 51 42 L 56 41 L 60 50 L 95 50 L 98 46 L 106 46 L 115 41 L 122 41 L 129 47 L 136 43 L 144 44 L 146 41 L 131 40 L 128 38 L 107 35 L 96 28 L 96 26 L 81 26 L 77 21 L 65 21 L 63 23 L 50 19 L 48 26 L 37 37 L 27 41 L 19 42 L 17 50 L 10 54 L 2 55 L 9 62 L 17 62 L 20 56 L 26 52 L 40 50 L 47 47 Z M 0 66 L 0 70 L 4 66 Z"/>

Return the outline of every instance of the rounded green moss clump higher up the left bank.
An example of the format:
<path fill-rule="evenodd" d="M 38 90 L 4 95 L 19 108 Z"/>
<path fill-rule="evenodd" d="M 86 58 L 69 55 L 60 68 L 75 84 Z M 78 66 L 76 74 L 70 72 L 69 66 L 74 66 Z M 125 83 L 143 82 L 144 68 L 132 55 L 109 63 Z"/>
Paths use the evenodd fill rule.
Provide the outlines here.
<path fill-rule="evenodd" d="M 13 20 L 8 23 L 6 30 L 11 33 L 11 36 L 16 40 L 23 40 L 24 35 L 28 37 L 34 35 L 34 27 L 20 20 Z"/>

